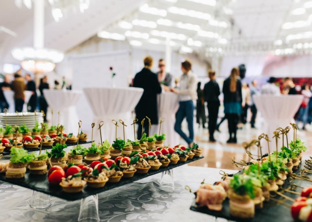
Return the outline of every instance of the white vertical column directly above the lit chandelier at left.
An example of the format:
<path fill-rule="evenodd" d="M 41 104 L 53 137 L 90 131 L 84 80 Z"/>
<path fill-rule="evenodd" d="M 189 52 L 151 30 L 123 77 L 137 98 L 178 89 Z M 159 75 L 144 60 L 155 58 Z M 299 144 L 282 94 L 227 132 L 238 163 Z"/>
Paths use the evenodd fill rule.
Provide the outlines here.
<path fill-rule="evenodd" d="M 44 2 L 43 0 L 33 0 L 34 2 L 34 48 L 44 47 Z"/>

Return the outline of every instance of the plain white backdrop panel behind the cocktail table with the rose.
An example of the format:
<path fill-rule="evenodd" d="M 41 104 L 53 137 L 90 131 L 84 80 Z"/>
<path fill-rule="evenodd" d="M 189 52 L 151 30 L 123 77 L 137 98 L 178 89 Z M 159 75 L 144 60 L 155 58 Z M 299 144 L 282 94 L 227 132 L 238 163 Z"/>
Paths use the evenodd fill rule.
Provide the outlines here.
<path fill-rule="evenodd" d="M 82 54 L 71 56 L 70 60 L 73 73 L 72 87 L 75 90 L 82 90 L 86 87 L 111 87 L 113 81 L 116 87 L 126 87 L 128 84 L 129 51 Z M 111 78 L 110 67 L 113 67 L 116 73 L 114 80 Z M 82 95 L 76 108 L 82 121 L 82 130 L 90 132 L 93 113 L 85 95 Z"/>

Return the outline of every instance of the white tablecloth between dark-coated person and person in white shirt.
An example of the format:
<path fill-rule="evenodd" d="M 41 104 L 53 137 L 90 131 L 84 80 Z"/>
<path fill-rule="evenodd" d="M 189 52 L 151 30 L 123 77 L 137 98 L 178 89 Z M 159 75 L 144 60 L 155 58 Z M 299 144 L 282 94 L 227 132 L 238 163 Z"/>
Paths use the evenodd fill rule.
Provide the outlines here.
<path fill-rule="evenodd" d="M 158 118 L 165 118 L 161 124 L 161 134 L 166 134 L 164 145 L 174 146 L 179 144 L 180 136 L 174 131 L 175 113 L 179 107 L 178 95 L 173 92 L 163 92 L 157 96 Z M 158 121 L 158 122 L 159 122 Z M 159 124 L 152 126 L 152 134 L 159 133 Z"/>

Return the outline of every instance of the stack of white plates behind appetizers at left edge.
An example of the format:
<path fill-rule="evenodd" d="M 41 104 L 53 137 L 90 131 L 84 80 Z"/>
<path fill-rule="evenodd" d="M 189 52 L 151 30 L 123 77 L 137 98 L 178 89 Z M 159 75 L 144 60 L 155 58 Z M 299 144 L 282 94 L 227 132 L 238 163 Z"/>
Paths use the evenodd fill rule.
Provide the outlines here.
<path fill-rule="evenodd" d="M 40 112 L 19 112 L 17 113 L 0 113 L 0 126 L 5 128 L 5 124 L 7 125 L 23 125 L 23 114 L 24 114 L 24 123 L 27 125 L 29 129 L 32 129 L 35 126 L 36 121 L 40 123 L 43 122 L 43 114 Z"/>

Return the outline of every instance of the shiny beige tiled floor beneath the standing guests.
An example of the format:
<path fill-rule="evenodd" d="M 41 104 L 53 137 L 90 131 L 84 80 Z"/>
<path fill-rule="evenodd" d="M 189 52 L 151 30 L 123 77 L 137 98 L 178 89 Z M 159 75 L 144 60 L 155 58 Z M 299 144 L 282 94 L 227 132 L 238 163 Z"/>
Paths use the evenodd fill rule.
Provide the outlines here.
<path fill-rule="evenodd" d="M 239 169 L 232 167 L 232 157 L 239 162 L 241 159 L 249 161 L 248 155 L 241 144 L 251 139 L 256 139 L 262 133 L 261 129 L 251 129 L 249 124 L 246 124 L 242 130 L 237 131 L 237 144 L 227 144 L 228 130 L 227 122 L 225 121 L 220 127 L 221 133 L 215 132 L 215 139 L 217 142 L 208 142 L 209 134 L 207 129 L 196 129 L 195 141 L 203 150 L 205 158 L 190 163 L 192 166 L 213 167 L 224 169 Z M 272 135 L 273 136 L 273 135 Z M 305 152 L 306 156 L 312 156 L 312 132 L 299 131 L 297 137 L 305 142 L 308 150 Z M 183 141 L 181 140 L 183 144 Z M 281 142 L 280 142 L 281 143 Z M 274 147 L 275 148 L 275 147 Z M 252 154 L 257 154 L 256 147 L 251 150 Z"/>

